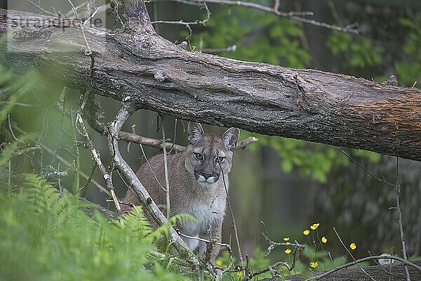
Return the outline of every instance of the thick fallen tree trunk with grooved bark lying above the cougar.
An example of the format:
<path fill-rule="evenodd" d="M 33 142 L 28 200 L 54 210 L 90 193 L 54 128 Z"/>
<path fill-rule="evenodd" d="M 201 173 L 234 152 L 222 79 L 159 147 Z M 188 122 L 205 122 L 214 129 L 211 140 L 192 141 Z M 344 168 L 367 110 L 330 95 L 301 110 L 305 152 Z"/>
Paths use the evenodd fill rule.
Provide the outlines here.
<path fill-rule="evenodd" d="M 95 61 L 88 83 L 91 58 L 74 21 L 57 28 L 43 15 L 1 10 L 0 33 L 36 30 L 14 27 L 22 18 L 44 22 L 51 37 L 9 37 L 2 65 L 38 67 L 69 86 L 180 119 L 421 160 L 420 89 L 185 51 L 145 19 L 137 32 L 84 29 Z"/>

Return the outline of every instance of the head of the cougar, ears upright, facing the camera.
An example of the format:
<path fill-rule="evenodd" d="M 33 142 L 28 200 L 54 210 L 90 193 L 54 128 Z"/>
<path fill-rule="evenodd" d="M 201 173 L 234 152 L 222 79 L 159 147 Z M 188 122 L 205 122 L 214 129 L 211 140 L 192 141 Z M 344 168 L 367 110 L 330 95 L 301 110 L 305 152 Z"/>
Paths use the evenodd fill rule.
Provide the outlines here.
<path fill-rule="evenodd" d="M 185 167 L 203 187 L 216 183 L 231 171 L 232 150 L 239 139 L 240 130 L 230 128 L 222 136 L 205 133 L 201 124 L 189 122 Z"/>

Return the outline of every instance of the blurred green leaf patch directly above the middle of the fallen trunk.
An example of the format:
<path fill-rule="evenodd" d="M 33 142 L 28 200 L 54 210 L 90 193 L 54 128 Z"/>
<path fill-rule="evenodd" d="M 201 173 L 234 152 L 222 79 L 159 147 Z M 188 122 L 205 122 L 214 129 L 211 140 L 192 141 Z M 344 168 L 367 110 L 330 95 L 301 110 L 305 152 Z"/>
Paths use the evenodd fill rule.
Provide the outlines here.
<path fill-rule="evenodd" d="M 311 56 L 302 48 L 302 23 L 251 9 L 222 8 L 213 12 L 206 29 L 194 34 L 192 44 L 203 48 L 236 45 L 221 55 L 290 67 L 306 67 Z"/>

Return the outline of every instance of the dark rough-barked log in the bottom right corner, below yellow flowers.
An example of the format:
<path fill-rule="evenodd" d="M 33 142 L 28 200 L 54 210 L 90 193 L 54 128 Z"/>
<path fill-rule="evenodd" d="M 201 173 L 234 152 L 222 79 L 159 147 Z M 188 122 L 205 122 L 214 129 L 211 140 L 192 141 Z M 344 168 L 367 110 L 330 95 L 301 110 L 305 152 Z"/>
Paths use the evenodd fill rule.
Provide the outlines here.
<path fill-rule="evenodd" d="M 421 261 L 414 262 L 417 266 L 421 266 Z M 385 266 L 369 266 L 364 268 L 366 273 L 374 278 L 374 280 L 390 280 L 390 281 L 403 281 L 406 280 L 405 268 L 402 264 L 393 264 Z M 421 280 L 421 272 L 416 268 L 408 266 L 411 280 Z M 392 274 L 391 274 L 392 273 Z M 286 281 L 299 281 L 306 280 L 307 278 L 314 277 L 314 274 L 309 275 L 292 275 L 286 277 Z M 327 277 L 323 277 L 320 280 L 341 280 L 341 281 L 368 281 L 370 278 L 364 274 L 360 268 L 349 268 L 338 270 L 338 272 L 332 273 Z"/>

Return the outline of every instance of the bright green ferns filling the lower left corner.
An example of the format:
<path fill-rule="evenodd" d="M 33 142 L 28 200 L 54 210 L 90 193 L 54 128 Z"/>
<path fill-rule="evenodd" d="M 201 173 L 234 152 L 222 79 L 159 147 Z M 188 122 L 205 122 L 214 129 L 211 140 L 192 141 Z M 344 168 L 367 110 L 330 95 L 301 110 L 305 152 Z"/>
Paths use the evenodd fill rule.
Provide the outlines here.
<path fill-rule="evenodd" d="M 1 280 L 187 280 L 149 254 L 156 234 L 141 209 L 109 222 L 34 174 L 20 187 L 0 189 Z"/>

